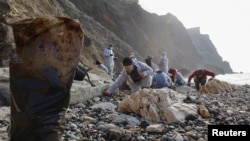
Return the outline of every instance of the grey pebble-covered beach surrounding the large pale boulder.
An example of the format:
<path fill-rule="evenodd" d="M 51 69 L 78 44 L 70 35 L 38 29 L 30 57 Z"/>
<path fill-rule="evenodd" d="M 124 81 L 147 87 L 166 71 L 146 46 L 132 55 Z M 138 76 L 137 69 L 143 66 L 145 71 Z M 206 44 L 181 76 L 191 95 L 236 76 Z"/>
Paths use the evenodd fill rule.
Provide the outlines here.
<path fill-rule="evenodd" d="M 250 124 L 249 85 L 240 86 L 231 93 L 189 93 L 183 101 L 203 103 L 210 118 L 189 117 L 171 123 L 152 123 L 134 113 L 117 112 L 119 101 L 127 94 L 125 90 L 112 97 L 97 96 L 84 103 L 71 104 L 63 141 L 206 141 L 208 125 Z M 3 141 L 8 140 L 9 117 L 1 111 L 0 140 Z"/>

